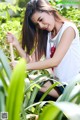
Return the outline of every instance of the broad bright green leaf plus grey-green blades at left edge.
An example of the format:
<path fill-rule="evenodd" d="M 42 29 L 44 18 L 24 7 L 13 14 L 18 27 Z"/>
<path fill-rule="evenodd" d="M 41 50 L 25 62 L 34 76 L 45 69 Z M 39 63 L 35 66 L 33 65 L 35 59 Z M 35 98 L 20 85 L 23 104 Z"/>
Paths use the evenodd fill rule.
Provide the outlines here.
<path fill-rule="evenodd" d="M 7 111 L 9 120 L 20 120 L 24 97 L 26 62 L 21 59 L 11 72 L 6 56 L 3 51 L 0 51 L 0 64 L 2 65 L 0 67 L 0 112 Z"/>

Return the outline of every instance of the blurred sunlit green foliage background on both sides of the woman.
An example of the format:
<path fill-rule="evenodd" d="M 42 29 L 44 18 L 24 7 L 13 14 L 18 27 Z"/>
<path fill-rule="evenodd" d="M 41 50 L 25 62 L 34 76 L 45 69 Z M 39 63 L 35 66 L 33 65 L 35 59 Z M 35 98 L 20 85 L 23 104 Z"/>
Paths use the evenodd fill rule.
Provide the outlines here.
<path fill-rule="evenodd" d="M 0 49 L 10 59 L 9 45 L 6 44 L 6 33 L 12 32 L 21 41 L 21 30 L 25 6 L 30 0 L 0 0 Z M 80 0 L 48 0 L 59 13 L 73 21 L 80 31 Z M 15 59 L 18 53 L 14 49 Z"/>

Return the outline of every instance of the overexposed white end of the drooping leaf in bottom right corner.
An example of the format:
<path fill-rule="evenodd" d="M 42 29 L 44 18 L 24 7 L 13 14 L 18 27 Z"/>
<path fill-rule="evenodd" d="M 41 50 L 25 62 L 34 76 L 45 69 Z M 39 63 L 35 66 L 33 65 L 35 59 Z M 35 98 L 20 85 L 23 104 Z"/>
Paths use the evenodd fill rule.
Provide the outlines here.
<path fill-rule="evenodd" d="M 80 106 L 70 102 L 55 102 L 54 104 L 69 120 L 80 120 Z"/>

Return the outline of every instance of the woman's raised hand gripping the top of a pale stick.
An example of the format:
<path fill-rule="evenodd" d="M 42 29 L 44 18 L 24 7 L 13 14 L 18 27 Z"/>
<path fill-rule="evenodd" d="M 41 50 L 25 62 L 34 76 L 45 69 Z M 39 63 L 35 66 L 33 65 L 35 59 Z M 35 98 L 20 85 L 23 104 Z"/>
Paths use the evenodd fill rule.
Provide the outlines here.
<path fill-rule="evenodd" d="M 14 47 L 17 47 L 19 45 L 18 40 L 12 33 L 8 32 L 6 37 L 7 37 L 7 42 L 12 43 Z"/>

